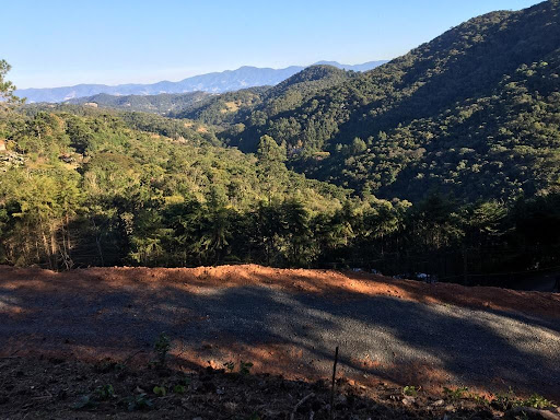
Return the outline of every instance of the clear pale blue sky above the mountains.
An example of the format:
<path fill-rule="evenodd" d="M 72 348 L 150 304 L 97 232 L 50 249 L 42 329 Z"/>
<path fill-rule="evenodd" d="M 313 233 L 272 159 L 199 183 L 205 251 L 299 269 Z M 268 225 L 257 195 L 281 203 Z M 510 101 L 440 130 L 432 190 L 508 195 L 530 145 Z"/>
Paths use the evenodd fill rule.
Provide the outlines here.
<path fill-rule="evenodd" d="M 537 0 L 2 0 L 18 88 L 151 83 L 241 66 L 389 59 Z"/>

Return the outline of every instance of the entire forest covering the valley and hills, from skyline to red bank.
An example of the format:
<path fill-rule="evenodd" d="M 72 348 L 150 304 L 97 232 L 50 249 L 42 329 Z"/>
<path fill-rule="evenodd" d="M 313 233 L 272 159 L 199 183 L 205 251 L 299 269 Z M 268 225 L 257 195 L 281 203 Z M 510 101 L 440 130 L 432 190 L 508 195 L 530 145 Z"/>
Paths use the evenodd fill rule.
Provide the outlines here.
<path fill-rule="evenodd" d="M 476 18 L 365 73 L 79 101 L 97 107 L 22 106 L 2 61 L 0 264 L 558 270 L 559 9 Z"/>

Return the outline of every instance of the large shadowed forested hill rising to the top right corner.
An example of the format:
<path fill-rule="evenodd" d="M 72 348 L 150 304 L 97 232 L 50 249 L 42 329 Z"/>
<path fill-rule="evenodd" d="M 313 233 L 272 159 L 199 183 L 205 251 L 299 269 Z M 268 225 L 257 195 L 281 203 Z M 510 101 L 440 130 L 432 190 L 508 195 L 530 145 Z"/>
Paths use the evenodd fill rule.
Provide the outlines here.
<path fill-rule="evenodd" d="M 559 9 L 552 0 L 475 18 L 281 113 L 241 115 L 223 137 L 254 151 L 269 133 L 298 155 L 301 171 L 385 198 L 511 198 L 552 188 Z M 324 151 L 330 155 L 319 160 Z"/>

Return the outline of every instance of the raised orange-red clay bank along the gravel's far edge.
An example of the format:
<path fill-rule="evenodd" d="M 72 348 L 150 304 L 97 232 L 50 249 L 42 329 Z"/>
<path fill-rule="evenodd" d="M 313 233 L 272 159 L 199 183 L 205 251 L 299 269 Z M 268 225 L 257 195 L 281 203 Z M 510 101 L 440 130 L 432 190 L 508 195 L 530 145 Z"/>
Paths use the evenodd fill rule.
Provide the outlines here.
<path fill-rule="evenodd" d="M 156 290 L 173 284 L 179 290 L 202 294 L 208 288 L 266 284 L 290 292 L 331 295 L 337 300 L 363 295 L 389 296 L 427 304 L 452 304 L 560 318 L 560 293 L 523 292 L 489 287 L 465 288 L 452 283 L 429 284 L 363 271 L 278 269 L 243 265 L 198 268 L 88 268 L 55 272 L 0 266 L 0 282 L 3 289 L 25 288 L 34 291 L 52 288 L 83 291 L 84 285 L 95 291 L 96 288 L 118 289 L 139 283 L 149 284 Z M 12 306 L 9 315 L 16 315 L 19 311 L 22 308 Z"/>

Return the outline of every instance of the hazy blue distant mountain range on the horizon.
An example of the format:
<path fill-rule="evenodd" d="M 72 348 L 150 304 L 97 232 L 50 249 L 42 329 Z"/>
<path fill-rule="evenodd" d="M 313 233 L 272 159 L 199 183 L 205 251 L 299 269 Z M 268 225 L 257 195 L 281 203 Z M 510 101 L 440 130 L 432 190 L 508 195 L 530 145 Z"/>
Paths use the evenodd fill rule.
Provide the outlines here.
<path fill-rule="evenodd" d="M 370 61 L 362 65 L 340 65 L 336 61 L 319 61 L 317 65 L 335 66 L 339 69 L 366 71 L 387 61 Z M 223 93 L 245 88 L 275 85 L 305 67 L 290 66 L 285 69 L 270 69 L 244 66 L 237 70 L 226 70 L 208 74 L 195 75 L 178 82 L 162 81 L 153 84 L 78 84 L 65 88 L 22 89 L 15 94 L 26 97 L 28 103 L 65 102 L 77 97 L 92 96 L 100 93 L 110 95 L 156 95 L 160 93 L 211 92 Z"/>

